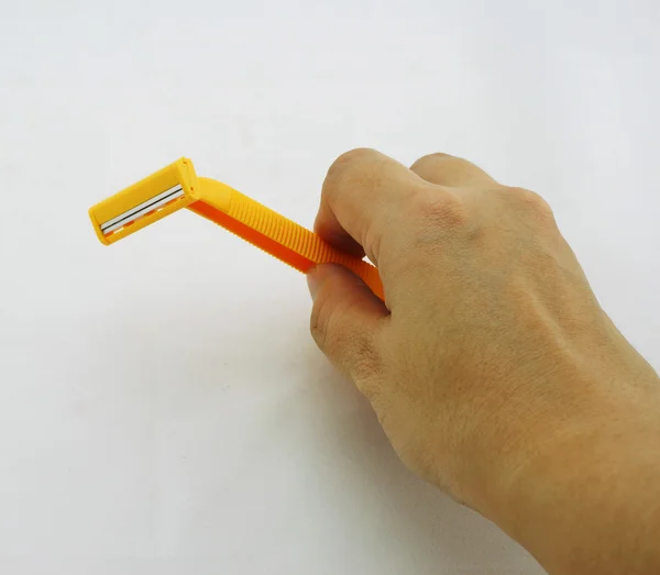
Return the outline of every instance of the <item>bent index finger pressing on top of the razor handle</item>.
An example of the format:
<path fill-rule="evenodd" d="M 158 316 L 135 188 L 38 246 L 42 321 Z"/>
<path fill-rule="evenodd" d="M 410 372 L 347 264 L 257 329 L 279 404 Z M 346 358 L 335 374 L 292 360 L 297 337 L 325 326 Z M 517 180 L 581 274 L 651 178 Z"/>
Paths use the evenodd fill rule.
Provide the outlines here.
<path fill-rule="evenodd" d="M 339 156 L 326 176 L 315 231 L 326 241 L 377 265 L 381 239 L 402 202 L 428 185 L 395 159 L 359 148 Z"/>

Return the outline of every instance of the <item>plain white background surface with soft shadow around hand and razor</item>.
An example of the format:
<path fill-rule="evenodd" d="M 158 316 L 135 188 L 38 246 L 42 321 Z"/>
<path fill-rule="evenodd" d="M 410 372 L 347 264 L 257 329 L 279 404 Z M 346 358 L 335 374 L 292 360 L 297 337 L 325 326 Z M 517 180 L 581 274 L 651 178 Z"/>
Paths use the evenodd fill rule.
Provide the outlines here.
<path fill-rule="evenodd" d="M 187 155 L 310 225 L 351 147 L 463 155 L 550 201 L 658 367 L 660 3 L 0 4 L 0 572 L 540 573 L 403 468 L 302 276 L 86 210 Z"/>

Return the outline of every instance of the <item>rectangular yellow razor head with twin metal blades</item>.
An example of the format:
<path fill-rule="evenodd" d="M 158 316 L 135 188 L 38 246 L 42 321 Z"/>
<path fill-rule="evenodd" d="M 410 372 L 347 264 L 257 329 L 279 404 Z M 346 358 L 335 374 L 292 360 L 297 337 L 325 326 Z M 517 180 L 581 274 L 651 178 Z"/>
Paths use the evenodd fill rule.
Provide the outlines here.
<path fill-rule="evenodd" d="M 200 198 L 193 162 L 180 158 L 89 210 L 99 240 L 109 245 Z"/>

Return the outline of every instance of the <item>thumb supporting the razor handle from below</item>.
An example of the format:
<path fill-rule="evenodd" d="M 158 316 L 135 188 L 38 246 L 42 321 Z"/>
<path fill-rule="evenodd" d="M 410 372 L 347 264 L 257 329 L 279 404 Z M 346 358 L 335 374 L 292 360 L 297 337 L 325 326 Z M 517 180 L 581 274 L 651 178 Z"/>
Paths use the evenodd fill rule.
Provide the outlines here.
<path fill-rule="evenodd" d="M 330 362 L 362 390 L 380 372 L 381 336 L 389 312 L 343 266 L 321 264 L 307 275 L 314 299 L 311 335 Z"/>

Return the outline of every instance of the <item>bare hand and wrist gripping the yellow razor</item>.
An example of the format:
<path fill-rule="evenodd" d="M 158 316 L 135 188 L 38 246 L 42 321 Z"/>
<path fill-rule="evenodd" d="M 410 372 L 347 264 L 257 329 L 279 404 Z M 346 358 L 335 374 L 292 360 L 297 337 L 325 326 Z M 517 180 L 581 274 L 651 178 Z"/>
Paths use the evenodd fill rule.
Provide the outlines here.
<path fill-rule="evenodd" d="M 600 307 L 548 203 L 446 154 L 340 156 L 311 333 L 402 461 L 551 574 L 660 573 L 660 380 Z"/>

